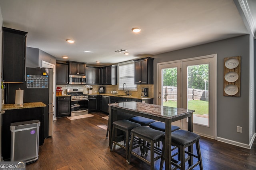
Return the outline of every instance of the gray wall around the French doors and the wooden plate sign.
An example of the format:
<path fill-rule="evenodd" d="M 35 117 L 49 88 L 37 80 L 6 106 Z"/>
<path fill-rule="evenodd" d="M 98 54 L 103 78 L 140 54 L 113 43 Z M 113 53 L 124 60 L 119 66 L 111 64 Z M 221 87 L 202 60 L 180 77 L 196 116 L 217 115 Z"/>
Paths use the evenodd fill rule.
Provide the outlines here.
<path fill-rule="evenodd" d="M 154 96 L 156 95 L 156 64 L 217 54 L 217 136 L 249 144 L 249 45 L 250 35 L 194 46 L 154 56 Z M 223 96 L 224 58 L 241 56 L 241 96 Z M 154 101 L 156 102 L 156 101 Z M 236 132 L 242 126 L 243 133 Z"/>

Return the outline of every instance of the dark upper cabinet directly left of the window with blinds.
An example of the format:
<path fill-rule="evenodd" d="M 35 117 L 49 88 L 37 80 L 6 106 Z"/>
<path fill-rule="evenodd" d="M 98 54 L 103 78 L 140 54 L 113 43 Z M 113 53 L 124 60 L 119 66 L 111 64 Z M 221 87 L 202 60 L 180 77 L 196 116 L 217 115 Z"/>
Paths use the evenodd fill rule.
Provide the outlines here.
<path fill-rule="evenodd" d="M 111 65 L 102 67 L 102 84 L 116 85 L 116 69 L 117 66 Z"/>

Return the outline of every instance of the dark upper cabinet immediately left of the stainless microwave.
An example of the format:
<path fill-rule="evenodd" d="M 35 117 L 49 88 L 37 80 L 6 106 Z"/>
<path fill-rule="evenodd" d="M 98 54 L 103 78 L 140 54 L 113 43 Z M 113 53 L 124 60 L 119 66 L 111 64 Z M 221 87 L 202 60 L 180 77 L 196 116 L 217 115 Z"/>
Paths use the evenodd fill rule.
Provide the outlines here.
<path fill-rule="evenodd" d="M 68 84 L 68 64 L 56 63 L 56 84 Z"/>

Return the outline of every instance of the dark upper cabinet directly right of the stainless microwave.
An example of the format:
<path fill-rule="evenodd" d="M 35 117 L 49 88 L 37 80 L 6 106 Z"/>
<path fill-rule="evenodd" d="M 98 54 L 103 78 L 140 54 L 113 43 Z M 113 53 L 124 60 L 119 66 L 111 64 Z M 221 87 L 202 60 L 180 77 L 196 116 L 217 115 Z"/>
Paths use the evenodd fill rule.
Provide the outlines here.
<path fill-rule="evenodd" d="M 86 67 L 86 84 L 100 84 L 99 67 Z"/>

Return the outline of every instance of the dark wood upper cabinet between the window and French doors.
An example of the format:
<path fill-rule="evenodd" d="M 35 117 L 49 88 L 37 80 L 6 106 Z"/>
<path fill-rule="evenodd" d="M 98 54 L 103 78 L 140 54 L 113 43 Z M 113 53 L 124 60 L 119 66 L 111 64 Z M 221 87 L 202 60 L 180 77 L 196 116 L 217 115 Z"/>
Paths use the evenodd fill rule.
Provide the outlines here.
<path fill-rule="evenodd" d="M 142 58 L 134 61 L 134 84 L 154 84 L 154 58 Z"/>

